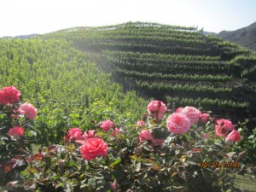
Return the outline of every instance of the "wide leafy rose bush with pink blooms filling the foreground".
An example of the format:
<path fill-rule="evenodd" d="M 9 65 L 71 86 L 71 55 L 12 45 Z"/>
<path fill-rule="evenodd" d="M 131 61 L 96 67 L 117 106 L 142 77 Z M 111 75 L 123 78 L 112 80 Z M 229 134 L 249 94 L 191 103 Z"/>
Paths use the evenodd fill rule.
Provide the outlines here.
<path fill-rule="evenodd" d="M 193 107 L 171 113 L 163 102 L 153 101 L 149 115 L 135 125 L 107 119 L 84 134 L 79 127 L 71 128 L 64 145 L 42 147 L 37 154 L 27 153 L 26 138 L 36 134 L 18 108 L 19 102 L 1 106 L 0 147 L 6 153 L 1 154 L 0 177 L 6 189 L 239 191 L 236 174 L 254 174 L 255 166 L 242 162 L 247 149 L 239 145 L 246 139 L 243 126 L 215 120 Z"/>

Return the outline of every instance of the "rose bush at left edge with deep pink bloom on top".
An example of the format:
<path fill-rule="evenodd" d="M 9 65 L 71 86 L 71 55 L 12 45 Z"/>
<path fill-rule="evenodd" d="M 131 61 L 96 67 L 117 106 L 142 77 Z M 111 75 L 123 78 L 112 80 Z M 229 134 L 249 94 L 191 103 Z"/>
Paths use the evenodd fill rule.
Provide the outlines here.
<path fill-rule="evenodd" d="M 21 180 L 20 171 L 26 168 L 36 139 L 30 119 L 36 117 L 37 109 L 21 104 L 20 96 L 14 86 L 0 90 L 0 186 Z"/>

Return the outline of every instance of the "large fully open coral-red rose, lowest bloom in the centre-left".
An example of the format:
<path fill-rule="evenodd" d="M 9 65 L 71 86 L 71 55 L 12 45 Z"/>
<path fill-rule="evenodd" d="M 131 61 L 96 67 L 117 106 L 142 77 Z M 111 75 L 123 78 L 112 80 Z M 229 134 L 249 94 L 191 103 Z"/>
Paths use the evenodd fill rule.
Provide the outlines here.
<path fill-rule="evenodd" d="M 80 148 L 80 153 L 85 160 L 96 159 L 97 156 L 108 154 L 108 144 L 101 138 L 89 138 Z"/>

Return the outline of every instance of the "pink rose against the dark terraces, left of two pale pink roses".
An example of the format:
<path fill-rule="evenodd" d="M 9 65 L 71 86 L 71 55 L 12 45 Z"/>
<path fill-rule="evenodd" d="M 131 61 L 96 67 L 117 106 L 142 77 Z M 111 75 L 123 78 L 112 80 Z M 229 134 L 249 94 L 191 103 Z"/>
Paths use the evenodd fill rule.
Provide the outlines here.
<path fill-rule="evenodd" d="M 160 101 L 153 101 L 148 104 L 147 111 L 154 117 L 157 117 L 158 119 L 162 119 L 164 117 L 164 114 L 166 112 L 167 108 L 165 103 Z"/>

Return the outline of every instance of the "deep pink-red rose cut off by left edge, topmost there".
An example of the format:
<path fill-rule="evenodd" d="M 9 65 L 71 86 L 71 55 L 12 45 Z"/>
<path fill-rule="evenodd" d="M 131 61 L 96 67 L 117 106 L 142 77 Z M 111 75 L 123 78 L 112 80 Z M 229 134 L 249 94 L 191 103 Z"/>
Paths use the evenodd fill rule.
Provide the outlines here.
<path fill-rule="evenodd" d="M 0 90 L 0 104 L 7 105 L 18 102 L 20 95 L 20 90 L 17 90 L 14 86 L 3 87 L 3 89 Z"/>

